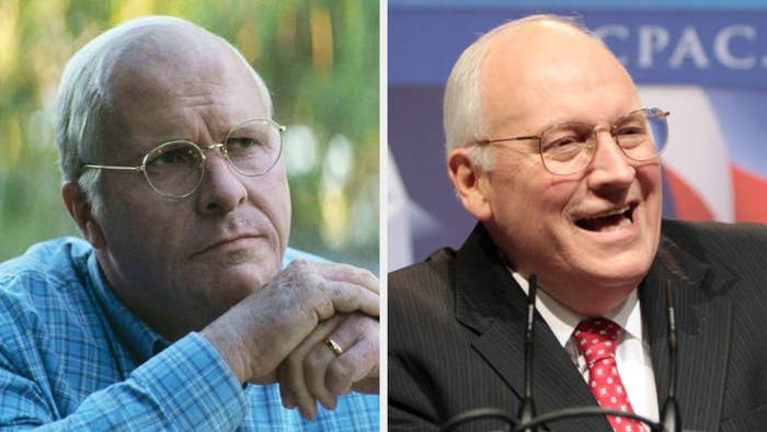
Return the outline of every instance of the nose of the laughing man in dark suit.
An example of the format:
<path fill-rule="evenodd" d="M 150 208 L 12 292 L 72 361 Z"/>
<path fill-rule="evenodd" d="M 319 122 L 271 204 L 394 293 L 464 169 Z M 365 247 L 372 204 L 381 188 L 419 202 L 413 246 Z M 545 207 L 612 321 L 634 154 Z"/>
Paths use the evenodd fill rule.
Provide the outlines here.
<path fill-rule="evenodd" d="M 603 129 L 595 132 L 594 139 L 596 148 L 587 171 L 589 189 L 628 187 L 633 182 L 637 170 L 616 138 L 608 130 Z"/>

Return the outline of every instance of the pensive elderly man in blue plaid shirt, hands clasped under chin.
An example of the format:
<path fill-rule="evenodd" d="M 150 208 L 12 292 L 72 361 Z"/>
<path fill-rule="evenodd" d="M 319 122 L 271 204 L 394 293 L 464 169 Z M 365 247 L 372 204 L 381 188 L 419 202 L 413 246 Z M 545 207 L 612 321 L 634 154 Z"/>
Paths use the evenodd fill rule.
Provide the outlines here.
<path fill-rule="evenodd" d="M 0 264 L 0 429 L 378 428 L 378 281 L 287 248 L 272 112 L 242 56 L 183 20 L 72 57 L 56 139 L 88 241 Z"/>

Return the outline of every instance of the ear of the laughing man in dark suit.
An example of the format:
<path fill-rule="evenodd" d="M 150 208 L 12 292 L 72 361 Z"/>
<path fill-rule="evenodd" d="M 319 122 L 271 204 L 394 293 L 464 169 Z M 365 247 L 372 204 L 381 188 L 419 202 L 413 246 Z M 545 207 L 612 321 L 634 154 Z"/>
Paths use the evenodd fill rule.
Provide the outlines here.
<path fill-rule="evenodd" d="M 481 182 L 485 173 L 478 167 L 466 147 L 447 155 L 447 173 L 463 207 L 478 220 L 489 221 L 493 215 Z"/>

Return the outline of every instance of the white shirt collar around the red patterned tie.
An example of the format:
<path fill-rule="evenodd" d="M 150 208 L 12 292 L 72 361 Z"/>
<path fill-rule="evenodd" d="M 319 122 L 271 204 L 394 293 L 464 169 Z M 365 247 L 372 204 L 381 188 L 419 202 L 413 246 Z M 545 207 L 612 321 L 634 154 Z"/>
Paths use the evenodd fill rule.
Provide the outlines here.
<path fill-rule="evenodd" d="M 508 271 L 512 272 L 514 280 L 519 284 L 525 295 L 527 295 L 529 289 L 527 280 L 511 268 Z M 553 299 L 542 289 L 538 289 L 536 293 L 536 309 L 562 346 L 570 341 L 577 325 L 586 319 L 586 317 L 575 314 L 569 307 Z M 609 318 L 615 323 L 622 327 L 626 338 L 643 340 L 642 314 L 639 307 L 637 289 L 631 291 L 629 296 L 620 305 L 605 314 L 604 317 Z"/>

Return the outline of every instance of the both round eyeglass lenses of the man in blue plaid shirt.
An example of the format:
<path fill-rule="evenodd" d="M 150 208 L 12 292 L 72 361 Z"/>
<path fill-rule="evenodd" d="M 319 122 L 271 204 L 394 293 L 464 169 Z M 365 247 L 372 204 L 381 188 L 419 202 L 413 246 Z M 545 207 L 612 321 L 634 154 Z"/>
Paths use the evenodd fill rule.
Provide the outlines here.
<path fill-rule="evenodd" d="M 234 126 L 222 144 L 222 156 L 237 172 L 249 177 L 267 172 L 282 150 L 279 127 L 267 120 L 251 120 Z M 145 158 L 145 174 L 160 194 L 188 196 L 203 180 L 203 155 L 204 150 L 191 141 L 165 143 Z"/>

